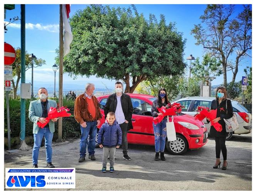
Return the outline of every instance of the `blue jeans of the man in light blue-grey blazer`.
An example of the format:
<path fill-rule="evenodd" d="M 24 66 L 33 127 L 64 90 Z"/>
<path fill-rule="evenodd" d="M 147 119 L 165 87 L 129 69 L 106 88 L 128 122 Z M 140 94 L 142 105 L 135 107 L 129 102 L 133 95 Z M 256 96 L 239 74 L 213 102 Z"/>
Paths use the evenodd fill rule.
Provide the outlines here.
<path fill-rule="evenodd" d="M 37 160 L 39 156 L 39 148 L 41 147 L 42 139 L 45 139 L 45 149 L 46 149 L 46 162 L 52 162 L 52 137 L 49 127 L 40 128 L 37 134 L 34 134 L 34 147 L 32 151 L 33 165 L 37 165 Z"/>

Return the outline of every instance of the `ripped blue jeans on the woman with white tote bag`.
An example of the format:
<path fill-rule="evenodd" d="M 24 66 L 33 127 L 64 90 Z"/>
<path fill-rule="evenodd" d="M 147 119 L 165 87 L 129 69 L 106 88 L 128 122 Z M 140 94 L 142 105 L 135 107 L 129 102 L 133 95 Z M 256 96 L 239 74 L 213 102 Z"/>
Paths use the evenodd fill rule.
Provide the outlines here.
<path fill-rule="evenodd" d="M 166 140 L 166 122 L 167 119 L 164 118 L 160 123 L 154 124 L 154 134 L 155 134 L 155 151 L 163 152 L 165 150 L 165 140 Z"/>

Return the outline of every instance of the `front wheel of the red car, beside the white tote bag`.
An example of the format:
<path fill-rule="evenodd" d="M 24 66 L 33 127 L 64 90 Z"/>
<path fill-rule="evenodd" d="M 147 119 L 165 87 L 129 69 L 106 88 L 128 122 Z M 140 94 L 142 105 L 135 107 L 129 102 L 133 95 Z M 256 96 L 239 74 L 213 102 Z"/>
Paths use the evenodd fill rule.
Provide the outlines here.
<path fill-rule="evenodd" d="M 189 148 L 187 140 L 181 134 L 176 134 L 176 141 L 166 140 L 166 148 L 172 155 L 182 155 Z"/>

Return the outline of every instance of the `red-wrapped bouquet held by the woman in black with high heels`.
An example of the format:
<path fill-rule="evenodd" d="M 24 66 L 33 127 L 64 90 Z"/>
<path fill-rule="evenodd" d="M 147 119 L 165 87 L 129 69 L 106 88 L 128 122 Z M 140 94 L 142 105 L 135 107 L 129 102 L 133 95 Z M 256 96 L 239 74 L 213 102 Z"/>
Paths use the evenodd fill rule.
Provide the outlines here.
<path fill-rule="evenodd" d="M 212 120 L 214 120 L 217 116 L 217 109 L 211 110 L 208 107 L 205 106 L 197 106 L 197 114 L 195 114 L 194 118 L 198 119 L 199 121 L 202 121 L 204 118 L 209 118 L 211 126 L 213 126 L 216 131 L 221 132 L 222 131 L 222 126 L 221 124 L 213 123 Z"/>

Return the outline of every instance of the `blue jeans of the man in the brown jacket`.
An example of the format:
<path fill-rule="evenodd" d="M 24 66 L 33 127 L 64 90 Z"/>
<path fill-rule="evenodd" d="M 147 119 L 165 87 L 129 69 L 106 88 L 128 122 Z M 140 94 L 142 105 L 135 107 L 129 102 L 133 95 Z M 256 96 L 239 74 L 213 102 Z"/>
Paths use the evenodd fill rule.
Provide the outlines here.
<path fill-rule="evenodd" d="M 88 135 L 90 135 L 89 143 L 88 143 L 88 153 L 89 155 L 94 155 L 95 149 L 95 138 L 97 134 L 97 121 L 86 122 L 86 128 L 83 128 L 80 125 L 81 129 L 81 140 L 80 140 L 80 157 L 86 155 L 86 144 Z"/>

